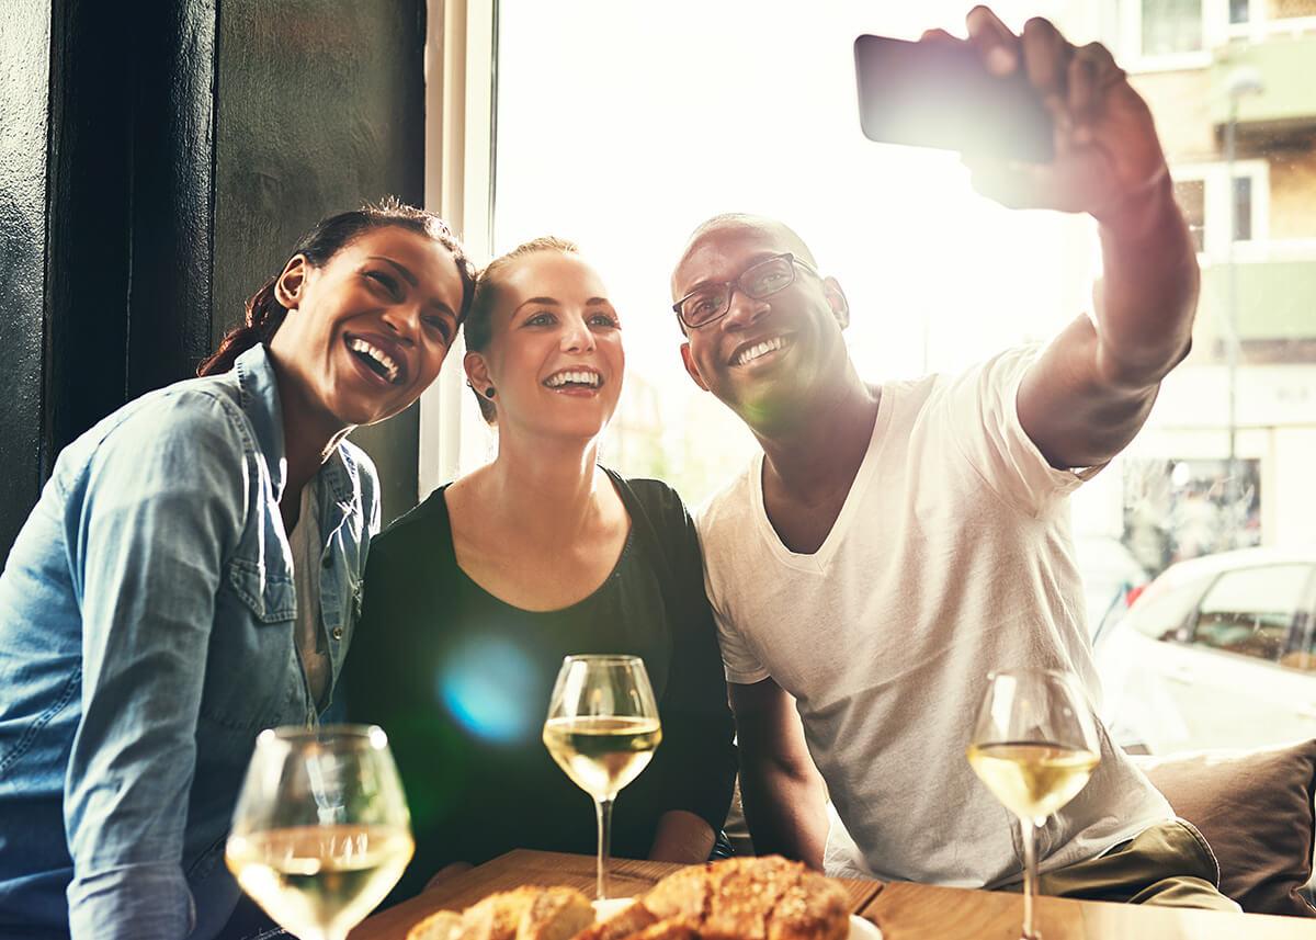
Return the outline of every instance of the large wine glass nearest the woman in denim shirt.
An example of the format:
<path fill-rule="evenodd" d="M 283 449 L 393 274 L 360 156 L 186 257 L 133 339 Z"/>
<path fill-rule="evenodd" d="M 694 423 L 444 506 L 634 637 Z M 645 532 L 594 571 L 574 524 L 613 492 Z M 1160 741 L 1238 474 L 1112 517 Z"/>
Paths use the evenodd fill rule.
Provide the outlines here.
<path fill-rule="evenodd" d="M 343 940 L 412 857 L 411 816 L 374 725 L 261 732 L 225 861 L 242 890 L 300 940 Z"/>

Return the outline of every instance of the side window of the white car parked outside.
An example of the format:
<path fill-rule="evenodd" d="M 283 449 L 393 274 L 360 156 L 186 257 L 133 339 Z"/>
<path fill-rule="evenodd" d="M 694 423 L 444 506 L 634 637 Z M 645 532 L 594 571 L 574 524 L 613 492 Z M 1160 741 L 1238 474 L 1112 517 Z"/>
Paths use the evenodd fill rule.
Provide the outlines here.
<path fill-rule="evenodd" d="M 1202 599 L 1192 642 L 1279 662 L 1311 574 L 1307 565 L 1225 571 Z"/>

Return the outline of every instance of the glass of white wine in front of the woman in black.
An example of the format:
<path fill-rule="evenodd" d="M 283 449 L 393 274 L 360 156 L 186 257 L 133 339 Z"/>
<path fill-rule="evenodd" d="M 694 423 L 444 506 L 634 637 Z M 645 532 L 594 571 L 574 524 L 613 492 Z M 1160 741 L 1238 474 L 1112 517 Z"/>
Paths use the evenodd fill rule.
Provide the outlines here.
<path fill-rule="evenodd" d="M 621 787 L 649 766 L 659 741 L 658 706 L 638 656 L 569 656 L 562 661 L 544 723 L 544 746 L 566 775 L 594 796 L 599 901 L 608 897 L 612 803 Z"/>

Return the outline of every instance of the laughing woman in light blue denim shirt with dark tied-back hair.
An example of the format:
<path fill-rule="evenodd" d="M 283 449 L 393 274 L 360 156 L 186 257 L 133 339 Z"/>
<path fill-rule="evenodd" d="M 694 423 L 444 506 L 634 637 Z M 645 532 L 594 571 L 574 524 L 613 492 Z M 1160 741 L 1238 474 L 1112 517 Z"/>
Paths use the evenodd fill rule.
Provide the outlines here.
<path fill-rule="evenodd" d="M 201 377 L 55 462 L 0 575 L 0 935 L 215 937 L 262 728 L 315 724 L 379 484 L 345 437 L 411 405 L 474 294 L 397 204 L 326 219 Z"/>

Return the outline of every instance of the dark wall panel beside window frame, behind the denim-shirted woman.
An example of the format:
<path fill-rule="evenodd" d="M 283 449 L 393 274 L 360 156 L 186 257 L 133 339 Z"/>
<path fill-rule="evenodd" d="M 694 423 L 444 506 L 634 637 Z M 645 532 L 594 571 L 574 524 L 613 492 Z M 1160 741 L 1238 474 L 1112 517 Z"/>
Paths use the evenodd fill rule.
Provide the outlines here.
<path fill-rule="evenodd" d="M 424 55 L 424 0 L 224 0 L 212 338 L 321 216 L 387 194 L 421 204 Z M 384 521 L 415 506 L 418 405 L 353 440 L 379 467 Z"/>

